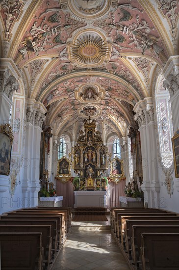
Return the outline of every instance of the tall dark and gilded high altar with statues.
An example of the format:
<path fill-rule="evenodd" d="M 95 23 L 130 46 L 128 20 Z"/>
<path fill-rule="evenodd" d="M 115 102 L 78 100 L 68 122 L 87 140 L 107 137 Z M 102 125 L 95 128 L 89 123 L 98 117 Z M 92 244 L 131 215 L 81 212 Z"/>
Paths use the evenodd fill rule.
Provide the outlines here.
<path fill-rule="evenodd" d="M 96 121 L 84 120 L 84 131 L 80 130 L 77 144 L 72 148 L 73 168 L 79 177 L 75 190 L 105 190 L 102 177 L 109 166 L 111 154 L 102 142 L 100 131 L 96 131 Z"/>

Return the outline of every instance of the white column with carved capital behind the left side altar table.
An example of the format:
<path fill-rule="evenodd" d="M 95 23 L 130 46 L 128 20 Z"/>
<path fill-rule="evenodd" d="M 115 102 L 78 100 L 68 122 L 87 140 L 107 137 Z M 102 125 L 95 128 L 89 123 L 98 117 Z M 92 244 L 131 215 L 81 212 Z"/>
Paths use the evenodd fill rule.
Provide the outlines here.
<path fill-rule="evenodd" d="M 23 198 L 30 201 L 30 207 L 38 205 L 40 139 L 46 111 L 42 103 L 27 99 L 22 191 Z"/>

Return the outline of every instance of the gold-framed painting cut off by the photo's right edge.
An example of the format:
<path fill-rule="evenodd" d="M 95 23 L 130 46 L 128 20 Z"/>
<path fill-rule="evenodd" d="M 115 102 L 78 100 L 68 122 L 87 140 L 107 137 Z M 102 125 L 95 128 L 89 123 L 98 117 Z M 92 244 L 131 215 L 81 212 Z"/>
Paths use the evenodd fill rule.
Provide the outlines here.
<path fill-rule="evenodd" d="M 175 177 L 179 178 L 179 130 L 177 130 L 172 138 L 172 148 L 174 155 Z"/>

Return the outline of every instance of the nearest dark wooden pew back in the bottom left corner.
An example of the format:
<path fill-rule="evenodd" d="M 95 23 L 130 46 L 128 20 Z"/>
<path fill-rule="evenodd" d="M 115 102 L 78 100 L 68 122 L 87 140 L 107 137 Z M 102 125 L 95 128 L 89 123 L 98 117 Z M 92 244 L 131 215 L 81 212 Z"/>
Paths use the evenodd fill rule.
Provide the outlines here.
<path fill-rule="evenodd" d="M 42 233 L 0 233 L 1 270 L 42 270 Z"/>

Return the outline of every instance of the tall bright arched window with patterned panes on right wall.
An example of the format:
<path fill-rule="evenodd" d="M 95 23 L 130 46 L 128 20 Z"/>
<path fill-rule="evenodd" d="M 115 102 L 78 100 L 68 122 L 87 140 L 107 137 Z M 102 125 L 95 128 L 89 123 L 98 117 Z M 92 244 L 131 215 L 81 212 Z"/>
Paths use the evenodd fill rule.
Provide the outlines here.
<path fill-rule="evenodd" d="M 156 89 L 156 116 L 158 127 L 158 138 L 160 145 L 160 156 L 164 167 L 169 168 L 173 162 L 172 142 L 173 135 L 170 94 L 163 87 L 163 79 L 157 84 Z"/>

